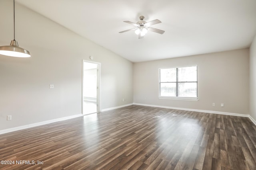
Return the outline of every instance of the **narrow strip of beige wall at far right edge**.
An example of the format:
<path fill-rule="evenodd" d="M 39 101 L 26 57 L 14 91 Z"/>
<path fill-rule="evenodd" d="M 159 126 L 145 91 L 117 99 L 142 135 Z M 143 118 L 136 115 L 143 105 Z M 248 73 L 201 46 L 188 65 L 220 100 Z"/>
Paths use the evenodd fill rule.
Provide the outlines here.
<path fill-rule="evenodd" d="M 256 120 L 256 36 L 250 47 L 250 115 Z"/>

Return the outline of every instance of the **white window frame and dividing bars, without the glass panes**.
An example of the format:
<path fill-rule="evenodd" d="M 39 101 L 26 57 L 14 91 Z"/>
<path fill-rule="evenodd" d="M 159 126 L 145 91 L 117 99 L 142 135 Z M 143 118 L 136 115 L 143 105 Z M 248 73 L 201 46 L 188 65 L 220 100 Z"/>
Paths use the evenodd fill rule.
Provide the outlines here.
<path fill-rule="evenodd" d="M 196 66 L 196 97 L 179 97 L 179 96 L 160 96 L 160 84 L 161 83 L 166 83 L 166 82 L 160 82 L 160 70 L 161 69 L 167 69 L 167 68 L 176 68 L 176 95 L 178 92 L 178 83 L 181 83 L 178 81 L 178 68 L 183 68 L 183 67 L 193 67 Z M 190 82 L 190 81 L 186 81 Z M 192 82 L 192 81 L 191 81 Z M 195 81 L 193 81 L 195 82 Z M 170 82 L 174 83 L 174 82 Z M 198 101 L 198 65 L 190 65 L 190 66 L 176 66 L 176 67 L 164 67 L 164 68 L 158 68 L 158 98 L 159 99 L 171 99 L 171 100 L 189 100 L 189 101 Z"/>

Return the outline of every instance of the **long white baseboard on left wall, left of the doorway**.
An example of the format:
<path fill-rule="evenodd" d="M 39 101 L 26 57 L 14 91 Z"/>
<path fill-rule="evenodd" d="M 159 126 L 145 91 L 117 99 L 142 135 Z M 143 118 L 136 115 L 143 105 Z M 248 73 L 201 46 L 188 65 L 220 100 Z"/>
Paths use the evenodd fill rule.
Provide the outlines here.
<path fill-rule="evenodd" d="M 22 129 L 28 129 L 30 127 L 36 127 L 36 126 L 40 126 L 40 125 L 46 125 L 46 124 L 54 123 L 54 122 L 57 122 L 57 121 L 64 121 L 64 120 L 68 120 L 68 119 L 73 119 L 73 118 L 80 117 L 80 116 L 83 116 L 83 115 L 82 114 L 72 115 L 72 116 L 67 116 L 67 117 L 61 117 L 61 118 L 58 118 L 58 119 L 52 119 L 52 120 L 47 120 L 47 121 L 41 121 L 41 122 L 38 122 L 38 123 L 32 123 L 32 124 L 28 124 L 28 125 L 24 125 L 24 126 L 13 127 L 13 128 L 10 128 L 10 129 L 4 129 L 4 130 L 0 130 L 0 134 L 19 131 L 19 130 L 22 130 Z"/>

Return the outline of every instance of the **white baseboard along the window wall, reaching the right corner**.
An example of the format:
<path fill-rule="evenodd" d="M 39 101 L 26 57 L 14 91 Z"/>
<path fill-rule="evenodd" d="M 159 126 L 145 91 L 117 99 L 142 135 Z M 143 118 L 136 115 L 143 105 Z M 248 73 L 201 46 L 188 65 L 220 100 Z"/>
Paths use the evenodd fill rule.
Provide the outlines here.
<path fill-rule="evenodd" d="M 166 109 L 177 109 L 177 110 L 186 110 L 186 111 L 197 111 L 197 112 L 204 112 L 204 113 L 214 113 L 214 114 L 220 114 L 220 115 L 231 115 L 231 116 L 240 116 L 240 117 L 249 117 L 249 118 L 251 117 L 250 115 L 239 114 L 239 113 L 229 113 L 229 112 L 222 112 L 222 111 L 187 109 L 187 108 L 180 108 L 180 107 L 158 106 L 158 105 L 139 104 L 139 103 L 134 103 L 134 105 L 161 107 Z M 250 119 L 252 120 L 252 117 Z M 256 121 L 252 121 L 252 122 L 254 122 L 254 124 L 256 125 Z"/>

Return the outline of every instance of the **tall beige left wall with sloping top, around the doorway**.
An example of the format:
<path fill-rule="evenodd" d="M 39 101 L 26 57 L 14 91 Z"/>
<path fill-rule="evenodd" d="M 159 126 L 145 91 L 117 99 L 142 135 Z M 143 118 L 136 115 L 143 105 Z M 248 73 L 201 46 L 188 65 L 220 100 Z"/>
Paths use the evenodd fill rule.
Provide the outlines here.
<path fill-rule="evenodd" d="M 13 39 L 12 7 L 0 1 L 0 46 Z M 130 61 L 18 3 L 15 12 L 16 41 L 32 57 L 0 55 L 0 130 L 81 114 L 82 60 L 89 56 L 102 66 L 102 109 L 133 102 Z"/>

